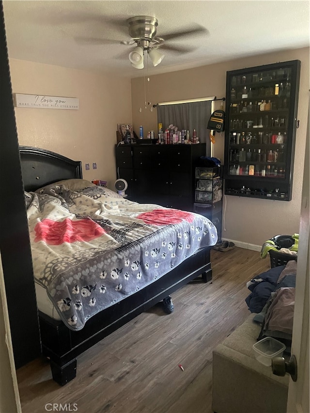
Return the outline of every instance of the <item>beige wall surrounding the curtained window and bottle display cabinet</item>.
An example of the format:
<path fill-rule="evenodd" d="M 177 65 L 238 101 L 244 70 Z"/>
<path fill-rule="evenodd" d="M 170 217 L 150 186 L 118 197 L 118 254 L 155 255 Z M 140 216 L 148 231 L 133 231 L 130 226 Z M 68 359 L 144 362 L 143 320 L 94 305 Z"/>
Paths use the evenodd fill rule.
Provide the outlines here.
<path fill-rule="evenodd" d="M 222 236 L 245 244 L 262 245 L 276 234 L 298 233 L 300 202 L 303 177 L 303 163 L 306 142 L 306 124 L 309 110 L 309 48 L 286 50 L 278 53 L 263 54 L 246 59 L 236 59 L 195 69 L 150 76 L 146 88 L 147 101 L 151 104 L 171 100 L 192 99 L 197 97 L 224 97 L 226 92 L 226 71 L 252 67 L 278 61 L 301 61 L 301 77 L 298 104 L 300 127 L 296 132 L 294 159 L 293 199 L 290 202 L 250 199 L 226 196 L 226 211 Z M 143 78 L 131 80 L 132 120 L 136 133 L 139 126 L 144 130 L 156 130 L 156 109 L 144 108 Z M 216 103 L 215 109 L 220 103 Z M 142 111 L 139 111 L 139 108 Z M 206 122 L 208 119 L 206 119 Z M 216 135 L 214 156 L 224 159 L 224 134 Z"/>

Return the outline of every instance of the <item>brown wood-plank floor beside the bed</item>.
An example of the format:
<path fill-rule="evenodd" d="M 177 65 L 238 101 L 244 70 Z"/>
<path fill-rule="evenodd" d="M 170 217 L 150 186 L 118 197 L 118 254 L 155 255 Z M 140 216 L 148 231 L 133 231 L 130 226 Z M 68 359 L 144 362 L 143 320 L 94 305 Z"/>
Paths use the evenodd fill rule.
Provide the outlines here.
<path fill-rule="evenodd" d="M 247 318 L 246 282 L 270 261 L 234 248 L 211 262 L 213 280 L 172 294 L 171 315 L 155 306 L 79 356 L 74 381 L 60 387 L 43 358 L 17 370 L 22 412 L 212 412 L 212 350 Z"/>

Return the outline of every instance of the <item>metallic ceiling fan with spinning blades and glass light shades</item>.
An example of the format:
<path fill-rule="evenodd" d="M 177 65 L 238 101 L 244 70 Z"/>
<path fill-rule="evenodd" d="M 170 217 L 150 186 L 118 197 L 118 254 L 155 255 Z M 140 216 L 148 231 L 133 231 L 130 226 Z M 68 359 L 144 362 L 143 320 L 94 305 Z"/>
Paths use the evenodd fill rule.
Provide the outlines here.
<path fill-rule="evenodd" d="M 122 22 L 124 24 L 124 22 Z M 174 33 L 163 34 L 157 36 L 158 20 L 153 16 L 134 16 L 126 20 L 129 31 L 130 40 L 122 40 L 119 42 L 122 45 L 133 46 L 133 50 L 129 53 L 129 60 L 136 69 L 143 69 L 144 54 L 147 53 L 154 66 L 157 66 L 163 58 L 164 54 L 158 49 L 166 49 L 178 53 L 188 53 L 193 50 L 193 47 L 173 46 L 168 45 L 167 41 L 180 38 L 182 36 L 190 36 L 195 34 L 206 34 L 208 31 L 202 26 L 195 25 L 190 29 L 178 31 Z M 119 25 L 118 25 L 119 27 Z M 79 39 L 82 40 L 82 39 Z M 92 39 L 89 39 L 92 41 Z M 107 41 L 104 39 L 93 39 L 95 43 L 115 43 L 115 41 Z"/>

